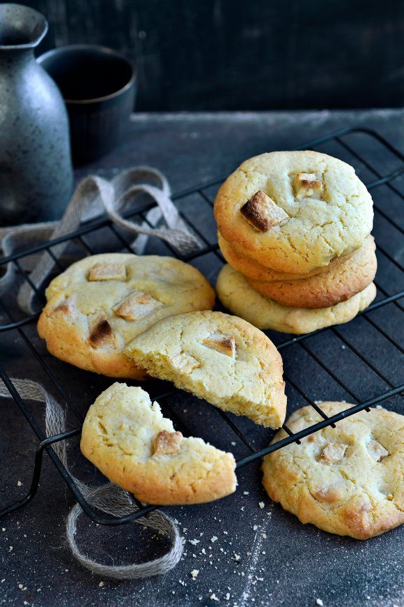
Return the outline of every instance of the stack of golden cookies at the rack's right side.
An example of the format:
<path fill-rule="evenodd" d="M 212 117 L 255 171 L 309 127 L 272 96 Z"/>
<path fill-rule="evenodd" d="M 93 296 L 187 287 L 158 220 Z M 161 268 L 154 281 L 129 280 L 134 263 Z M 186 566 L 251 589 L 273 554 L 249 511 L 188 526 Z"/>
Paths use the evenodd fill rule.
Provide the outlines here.
<path fill-rule="evenodd" d="M 222 303 L 260 329 L 302 334 L 375 297 L 373 203 L 355 170 L 314 151 L 261 154 L 215 200 Z"/>

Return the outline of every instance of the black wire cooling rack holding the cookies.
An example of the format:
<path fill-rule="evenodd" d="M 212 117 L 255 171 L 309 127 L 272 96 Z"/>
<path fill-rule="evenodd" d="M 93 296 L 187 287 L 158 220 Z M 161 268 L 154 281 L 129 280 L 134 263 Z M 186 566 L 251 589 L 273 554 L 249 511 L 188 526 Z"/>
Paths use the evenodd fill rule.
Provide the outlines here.
<path fill-rule="evenodd" d="M 320 414 L 322 420 L 298 433 L 293 433 L 286 424 L 283 424 L 283 429 L 286 430 L 288 437 L 265 449 L 256 449 L 251 444 L 254 440 L 251 441 L 247 433 L 242 431 L 240 418 L 218 411 L 223 422 L 228 424 L 227 428 L 230 426 L 231 432 L 237 435 L 240 444 L 246 450 L 245 456 L 238 460 L 238 468 L 254 460 L 259 460 L 271 451 L 281 449 L 286 444 L 299 443 L 302 437 L 306 437 L 325 426 L 334 426 L 336 422 L 358 411 L 368 410 L 369 407 L 393 397 L 400 398 L 401 393 L 404 392 L 404 348 L 401 345 L 404 344 L 404 323 L 401 315 L 404 309 L 399 301 L 404 297 L 404 268 L 403 260 L 401 260 L 404 249 L 402 239 L 404 232 L 402 207 L 404 186 L 400 179 L 401 175 L 404 174 L 404 156 L 378 133 L 366 128 L 339 130 L 331 135 L 308 142 L 299 149 L 317 149 L 346 160 L 355 167 L 357 174 L 366 183 L 368 190 L 372 191 L 375 202 L 375 229 L 373 234 L 376 239 L 379 264 L 378 276 L 375 281 L 378 296 L 371 306 L 359 314 L 357 319 L 345 325 L 328 327 L 311 334 L 295 337 L 267 331 L 267 334 L 276 343 L 278 350 L 281 351 L 284 364 L 293 361 L 293 363 L 285 365 L 287 390 L 292 392 L 293 398 L 302 398 L 306 404 L 311 405 Z M 219 183 L 223 179 L 223 177 L 220 177 L 210 181 L 210 183 L 205 183 L 203 186 L 189 188 L 173 196 L 183 220 L 203 243 L 203 248 L 197 253 L 180 257 L 180 259 L 196 265 L 211 279 L 215 278 L 224 263 L 217 246 L 215 221 L 212 215 L 212 201 Z M 147 213 L 152 207 L 153 204 L 150 201 L 145 201 L 144 204 L 142 203 L 141 206 L 137 207 L 136 213 L 127 213 L 127 216 L 147 223 Z M 109 242 L 109 239 L 112 239 L 111 242 Z M 44 288 L 36 289 L 32 285 L 29 271 L 26 271 L 23 267 L 24 260 L 29 260 L 31 256 L 38 255 L 38 253 L 46 252 L 54 260 L 55 269 L 59 273 L 66 267 L 65 252 L 63 257 L 59 255 L 62 243 L 63 245 L 68 243 L 70 248 L 73 248 L 72 257 L 76 258 L 106 250 L 132 252 L 127 234 L 121 232 L 108 219 L 100 218 L 81 225 L 78 230 L 71 234 L 22 250 L 15 255 L 4 257 L 0 260 L 0 267 L 13 263 L 20 280 L 28 281 L 35 289 L 38 301 L 43 302 Z M 178 257 L 176 251 L 169 245 L 156 239 L 150 239 L 148 247 L 150 251 L 148 250 L 147 253 L 169 254 Z M 0 320 L 3 320 L 0 332 L 6 334 L 10 334 L 10 331 L 17 332 L 18 337 L 22 339 L 24 347 L 29 352 L 29 356 L 36 361 L 41 373 L 45 373 L 47 380 L 49 380 L 52 394 L 65 403 L 68 410 L 77 419 L 77 423 L 76 427 L 71 430 L 47 437 L 41 428 L 42 419 L 37 419 L 31 411 L 29 403 L 26 403 L 18 393 L 6 370 L 7 365 L 0 366 L 1 379 L 40 441 L 36 448 L 33 476 L 28 493 L 22 500 L 10 504 L 0 511 L 0 517 L 20 509 L 36 495 L 44 451 L 47 451 L 49 458 L 63 477 L 65 484 L 70 488 L 75 500 L 87 516 L 96 523 L 121 525 L 147 515 L 155 509 L 155 506 L 145 506 L 133 498 L 134 511 L 129 516 L 121 518 L 103 516 L 86 501 L 75 483 L 75 479 L 63 466 L 56 451 L 52 448 L 52 444 L 79 435 L 83 419 L 75 403 L 66 394 L 65 388 L 61 384 L 61 376 L 54 370 L 55 367 L 51 368 L 49 358 L 40 353 L 40 340 L 33 330 L 39 313 L 29 317 L 18 317 L 21 313 L 17 310 L 17 306 L 13 305 L 13 302 L 15 304 L 14 295 L 11 299 L 10 297 L 0 298 Z M 40 305 L 38 305 L 39 308 Z M 62 368 L 62 364 L 59 365 Z M 71 373 L 75 372 L 73 367 L 63 366 L 63 373 L 66 373 L 66 368 L 71 370 Z M 302 368 L 302 373 L 295 377 L 293 371 L 296 371 L 297 368 Z M 361 379 L 359 384 L 358 378 Z M 356 403 L 348 410 L 333 417 L 327 417 L 313 396 L 318 391 L 322 391 L 320 394 L 323 395 L 330 384 L 332 384 L 334 394 L 347 395 L 352 403 Z M 157 389 L 155 389 L 153 398 L 160 403 L 166 401 L 169 396 L 178 393 L 176 389 L 167 390 L 164 382 L 157 382 L 154 385 L 157 385 Z M 290 402 L 290 396 L 288 396 L 288 399 Z M 185 419 L 178 417 L 171 405 L 166 402 L 165 407 L 173 421 L 180 424 L 182 429 L 187 432 Z M 254 431 L 258 432 L 258 428 L 252 430 L 252 432 Z"/>

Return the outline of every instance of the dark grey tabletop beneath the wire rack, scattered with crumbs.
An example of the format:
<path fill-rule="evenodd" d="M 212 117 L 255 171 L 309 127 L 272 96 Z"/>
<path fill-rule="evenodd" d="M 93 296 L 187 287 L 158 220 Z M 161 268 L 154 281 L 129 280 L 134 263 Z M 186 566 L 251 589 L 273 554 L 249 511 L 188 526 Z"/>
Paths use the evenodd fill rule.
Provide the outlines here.
<path fill-rule="evenodd" d="M 297 147 L 346 126 L 375 128 L 403 150 L 403 118 L 404 110 L 134 114 L 121 147 L 77 170 L 75 176 L 80 179 L 94 172 L 110 178 L 123 168 L 152 165 L 160 168 L 173 190 L 178 191 L 228 174 L 254 153 Z M 359 134 L 348 140 L 382 174 L 396 169 L 397 160 L 369 135 Z M 340 157 L 343 153 L 332 145 L 323 151 Z M 349 155 L 342 157 L 355 164 L 366 183 L 374 178 Z M 404 193 L 403 177 L 396 179 L 394 185 Z M 210 196 L 214 193 L 210 188 Z M 373 196 L 375 203 L 404 227 L 401 198 L 387 186 L 373 190 Z M 189 195 L 182 199 L 181 209 L 190 220 L 199 216 L 205 237 L 215 241 L 212 210 L 203 213 L 203 209 L 209 209 L 207 204 L 202 204 L 196 195 Z M 403 237 L 380 213 L 376 213 L 373 233 L 377 243 L 403 264 Z M 164 253 L 157 239 L 150 239 L 149 246 L 150 252 Z M 217 264 L 212 254 L 203 255 L 197 262 L 212 284 Z M 378 283 L 389 293 L 403 289 L 403 273 L 383 255 L 379 255 L 379 264 Z M 15 301 L 15 293 L 10 292 L 9 297 Z M 13 311 L 17 313 L 15 304 Z M 402 341 L 403 313 L 397 306 L 389 304 L 374 310 L 371 317 L 387 334 Z M 0 317 L 0 323 L 1 320 Z M 341 325 L 339 330 L 391 382 L 401 384 L 403 355 L 393 350 L 363 317 Z M 33 340 L 77 410 L 85 414 L 95 396 L 113 380 L 54 359 L 38 339 L 35 324 L 26 327 L 24 333 Z M 270 335 L 277 343 L 284 338 L 274 332 Z M 344 349 L 331 330 L 310 338 L 307 345 L 361 400 L 386 389 L 381 378 L 354 357 L 348 347 Z M 283 350 L 282 357 L 286 373 L 314 400 L 350 400 L 298 345 Z M 2 334 L 0 362 L 10 376 L 36 380 L 61 400 L 18 331 Z M 146 389 L 152 388 L 149 384 Z M 292 390 L 288 396 L 288 412 L 305 404 Z M 246 454 L 215 407 L 184 392 L 164 402 L 186 420 L 194 435 L 221 449 L 230 449 L 238 459 Z M 385 406 L 403 412 L 403 398 L 391 399 Z M 29 407 L 43 427 L 43 407 L 35 403 L 29 403 Z M 266 428 L 245 418 L 233 417 L 233 421 L 256 448 L 269 442 L 271 433 Z M 76 423 L 70 415 L 69 424 Z M 37 442 L 15 403 L 0 399 L 0 507 L 26 493 Z M 68 456 L 78 478 L 88 484 L 102 482 L 93 466 L 80 455 L 77 438 L 68 441 Z M 404 606 L 404 527 L 365 542 L 337 537 L 300 524 L 295 516 L 271 502 L 261 484 L 258 462 L 240 469 L 238 481 L 236 493 L 224 500 L 165 509 L 178 520 L 180 534 L 185 538 L 183 560 L 175 569 L 157 578 L 117 582 L 90 574 L 73 559 L 65 540 L 65 518 L 74 500 L 45 456 L 36 498 L 0 521 L 0 604 L 23 606 L 26 601 L 27 606 L 35 607 L 317 607 L 316 599 L 321 599 L 324 607 Z M 265 504 L 263 509 L 259 502 Z M 214 536 L 218 539 L 212 542 Z M 196 538 L 200 540 L 197 546 L 189 543 Z M 153 537 L 139 525 L 100 527 L 86 517 L 79 522 L 78 541 L 88 555 L 109 564 L 131 559 L 141 562 L 166 550 L 163 537 Z M 240 561 L 235 560 L 235 553 L 240 555 Z M 192 569 L 199 569 L 195 581 L 191 578 Z M 104 586 L 100 586 L 101 582 Z M 218 603 L 210 600 L 212 592 L 219 598 Z M 227 593 L 229 600 L 225 598 Z"/>

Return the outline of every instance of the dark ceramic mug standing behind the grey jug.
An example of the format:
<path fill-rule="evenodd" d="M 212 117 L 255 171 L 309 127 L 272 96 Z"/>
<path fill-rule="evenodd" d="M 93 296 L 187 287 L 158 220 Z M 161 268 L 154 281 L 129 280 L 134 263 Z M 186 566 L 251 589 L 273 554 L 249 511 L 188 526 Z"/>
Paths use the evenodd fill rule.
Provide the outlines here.
<path fill-rule="evenodd" d="M 136 70 L 120 53 L 95 45 L 59 47 L 38 58 L 65 100 L 75 165 L 118 144 L 134 106 Z"/>

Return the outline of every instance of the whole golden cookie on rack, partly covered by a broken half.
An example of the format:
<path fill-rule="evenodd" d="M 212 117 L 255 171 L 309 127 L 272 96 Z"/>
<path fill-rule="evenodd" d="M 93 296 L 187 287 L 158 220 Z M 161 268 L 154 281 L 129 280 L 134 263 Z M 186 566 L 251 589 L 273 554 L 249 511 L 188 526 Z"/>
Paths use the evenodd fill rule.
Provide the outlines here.
<path fill-rule="evenodd" d="M 109 377 L 144 379 L 123 347 L 166 316 L 210 309 L 215 292 L 172 257 L 107 253 L 72 264 L 52 280 L 38 333 L 55 357 Z"/>

